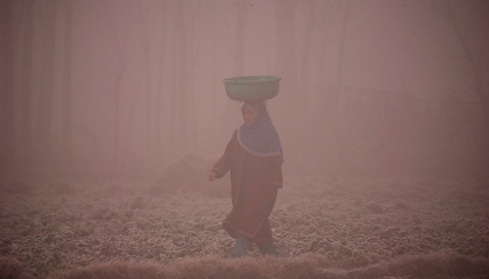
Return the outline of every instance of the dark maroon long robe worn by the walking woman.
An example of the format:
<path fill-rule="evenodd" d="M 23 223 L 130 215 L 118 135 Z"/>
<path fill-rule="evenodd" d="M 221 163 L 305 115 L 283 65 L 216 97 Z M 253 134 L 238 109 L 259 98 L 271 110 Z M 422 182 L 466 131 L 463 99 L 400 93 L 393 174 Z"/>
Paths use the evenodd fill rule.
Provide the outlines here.
<path fill-rule="evenodd" d="M 218 179 L 228 171 L 231 174 L 233 209 L 222 223 L 226 232 L 234 238 L 240 232 L 256 243 L 270 241 L 268 216 L 275 205 L 277 190 L 282 188 L 282 157 L 251 155 L 242 148 L 235 131 L 212 170 Z"/>

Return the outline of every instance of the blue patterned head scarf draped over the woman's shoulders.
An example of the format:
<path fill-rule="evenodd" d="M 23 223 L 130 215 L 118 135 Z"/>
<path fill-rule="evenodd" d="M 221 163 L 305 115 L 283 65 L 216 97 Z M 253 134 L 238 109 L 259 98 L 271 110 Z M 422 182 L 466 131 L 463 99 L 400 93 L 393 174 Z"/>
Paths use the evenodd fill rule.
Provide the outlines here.
<path fill-rule="evenodd" d="M 272 124 L 265 103 L 245 103 L 241 110 L 245 108 L 251 110 L 256 115 L 256 118 L 250 126 L 246 126 L 243 123 L 238 128 L 238 142 L 240 142 L 242 148 L 254 156 L 270 157 L 279 155 L 284 160 L 279 134 Z"/>

